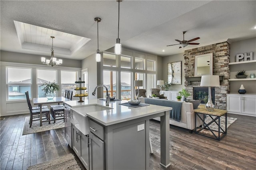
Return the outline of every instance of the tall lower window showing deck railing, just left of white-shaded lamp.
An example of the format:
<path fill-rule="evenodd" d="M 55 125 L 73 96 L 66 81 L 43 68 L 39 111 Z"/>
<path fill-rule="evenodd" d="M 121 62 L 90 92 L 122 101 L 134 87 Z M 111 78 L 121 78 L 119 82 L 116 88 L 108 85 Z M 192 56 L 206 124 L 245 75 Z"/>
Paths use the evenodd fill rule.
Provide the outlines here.
<path fill-rule="evenodd" d="M 121 100 L 131 99 L 131 72 L 121 72 Z"/>

